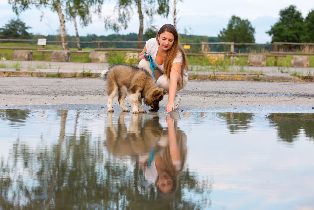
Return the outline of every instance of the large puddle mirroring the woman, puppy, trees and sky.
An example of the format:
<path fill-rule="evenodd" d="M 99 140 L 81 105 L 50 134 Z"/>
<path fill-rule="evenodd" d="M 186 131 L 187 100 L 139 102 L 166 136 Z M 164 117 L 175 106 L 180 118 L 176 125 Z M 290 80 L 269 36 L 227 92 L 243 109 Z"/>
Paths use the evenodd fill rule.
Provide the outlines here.
<path fill-rule="evenodd" d="M 313 209 L 314 114 L 0 110 L 0 209 Z"/>

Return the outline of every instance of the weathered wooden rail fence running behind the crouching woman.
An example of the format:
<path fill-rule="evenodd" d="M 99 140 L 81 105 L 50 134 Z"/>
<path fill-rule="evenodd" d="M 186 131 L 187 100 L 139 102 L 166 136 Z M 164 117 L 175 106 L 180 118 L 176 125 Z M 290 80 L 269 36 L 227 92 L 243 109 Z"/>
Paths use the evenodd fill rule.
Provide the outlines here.
<path fill-rule="evenodd" d="M 0 39 L 0 41 L 21 41 L 21 42 L 36 42 L 36 39 Z M 62 43 L 63 41 L 47 41 L 47 43 Z M 77 41 L 66 41 L 67 43 L 78 43 Z M 142 43 L 143 47 L 146 41 L 80 41 L 79 43 L 91 43 L 97 45 L 97 47 L 94 48 L 95 51 L 133 51 L 133 52 L 141 52 L 142 49 L 138 48 L 110 48 L 110 47 L 100 47 L 101 43 Z M 203 56 L 206 54 L 224 54 L 225 56 L 230 56 L 230 64 L 233 64 L 233 58 L 234 56 L 248 56 L 252 53 L 237 53 L 235 52 L 235 46 L 252 46 L 252 45 L 271 45 L 273 46 L 273 51 L 269 53 L 263 53 L 263 55 L 266 55 L 267 57 L 275 57 L 275 60 L 278 59 L 278 57 L 286 57 L 287 55 L 314 55 L 314 52 L 283 52 L 282 50 L 279 50 L 280 46 L 295 46 L 295 45 L 303 45 L 303 46 L 314 46 L 314 43 L 295 43 L 295 42 L 273 42 L 273 43 L 265 43 L 265 44 L 258 44 L 258 43 L 235 43 L 235 42 L 200 42 L 200 43 L 181 43 L 182 45 L 201 45 L 201 50 L 198 52 L 187 52 L 187 55 L 196 55 L 196 56 Z M 228 47 L 228 51 L 226 52 L 213 52 L 208 49 L 210 49 L 210 45 L 226 45 L 230 46 Z M 56 50 L 47 50 L 45 48 L 45 45 L 42 45 L 41 47 L 0 47 L 0 49 L 30 49 L 30 50 L 37 50 L 39 52 L 53 52 Z M 73 53 L 90 53 L 92 51 L 78 51 L 78 50 L 70 50 L 70 52 Z M 275 65 L 277 65 L 277 62 L 275 62 Z"/>

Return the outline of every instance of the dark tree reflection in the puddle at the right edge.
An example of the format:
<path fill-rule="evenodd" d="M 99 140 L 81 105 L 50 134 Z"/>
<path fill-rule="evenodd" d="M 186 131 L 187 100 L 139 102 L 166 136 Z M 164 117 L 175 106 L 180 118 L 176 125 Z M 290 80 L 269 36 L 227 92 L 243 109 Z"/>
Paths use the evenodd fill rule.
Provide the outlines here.
<path fill-rule="evenodd" d="M 267 118 L 278 128 L 278 137 L 283 141 L 293 142 L 304 130 L 307 137 L 314 140 L 314 115 L 300 113 L 272 113 Z"/>

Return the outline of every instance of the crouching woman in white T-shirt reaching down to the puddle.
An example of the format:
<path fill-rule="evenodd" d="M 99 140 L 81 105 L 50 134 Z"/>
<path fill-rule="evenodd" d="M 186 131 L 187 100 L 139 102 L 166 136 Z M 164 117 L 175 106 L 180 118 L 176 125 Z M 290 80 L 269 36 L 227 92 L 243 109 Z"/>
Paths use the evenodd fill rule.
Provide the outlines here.
<path fill-rule="evenodd" d="M 147 69 L 152 75 L 148 54 L 153 58 L 157 67 L 154 70 L 156 83 L 169 94 L 166 105 L 166 112 L 169 113 L 179 107 L 181 96 L 177 91 L 183 89 L 187 84 L 189 67 L 187 57 L 179 42 L 178 32 L 173 25 L 163 25 L 156 38 L 146 41 L 145 47 L 138 57 L 140 61 L 138 66 Z"/>

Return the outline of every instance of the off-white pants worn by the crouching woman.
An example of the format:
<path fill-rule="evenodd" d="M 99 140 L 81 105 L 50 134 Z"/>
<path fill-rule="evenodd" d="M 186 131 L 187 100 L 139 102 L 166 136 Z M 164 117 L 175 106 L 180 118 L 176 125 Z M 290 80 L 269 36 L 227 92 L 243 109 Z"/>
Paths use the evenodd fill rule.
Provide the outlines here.
<path fill-rule="evenodd" d="M 149 61 L 146 59 L 142 59 L 139 64 L 138 67 L 141 67 L 143 69 L 146 69 L 150 75 L 153 75 L 152 73 L 152 69 L 150 68 L 150 64 Z M 158 68 L 156 70 L 154 70 L 154 78 L 156 80 L 156 84 L 159 85 L 160 87 L 162 87 L 165 91 L 169 92 L 169 86 L 170 86 L 170 80 L 167 78 L 167 75 L 163 74 Z M 180 79 L 181 80 L 181 76 Z M 177 87 L 177 91 L 182 90 L 182 88 L 184 88 L 187 84 L 187 78 L 184 77 L 183 78 L 183 86 L 178 86 Z"/>

